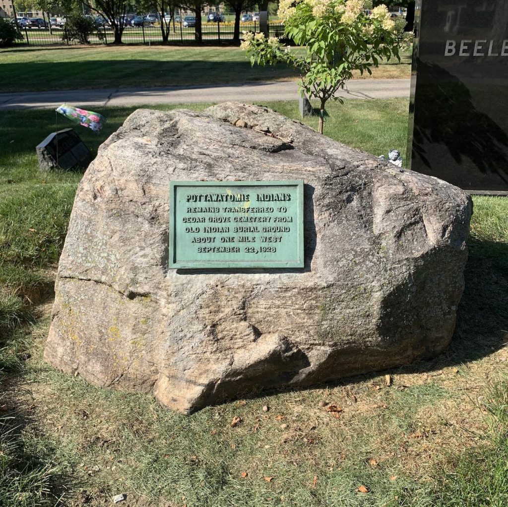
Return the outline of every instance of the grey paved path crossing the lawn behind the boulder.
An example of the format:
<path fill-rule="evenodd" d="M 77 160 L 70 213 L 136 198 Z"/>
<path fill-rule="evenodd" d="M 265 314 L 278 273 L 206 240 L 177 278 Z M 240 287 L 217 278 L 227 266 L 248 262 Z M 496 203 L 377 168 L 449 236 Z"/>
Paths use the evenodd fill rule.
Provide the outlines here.
<path fill-rule="evenodd" d="M 243 83 L 218 86 L 165 88 L 109 88 L 0 93 L 0 110 L 56 108 L 64 102 L 77 106 L 137 106 L 187 102 L 263 102 L 298 97 L 295 81 Z M 340 93 L 348 99 L 387 99 L 409 96 L 409 79 L 359 79 Z"/>

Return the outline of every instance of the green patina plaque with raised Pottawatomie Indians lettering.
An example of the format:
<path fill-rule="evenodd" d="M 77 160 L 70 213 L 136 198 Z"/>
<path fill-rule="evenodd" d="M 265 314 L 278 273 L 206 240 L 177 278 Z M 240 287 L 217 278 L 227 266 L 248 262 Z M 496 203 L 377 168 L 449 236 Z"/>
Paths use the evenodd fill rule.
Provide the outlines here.
<path fill-rule="evenodd" d="M 172 181 L 169 268 L 303 268 L 303 180 Z"/>

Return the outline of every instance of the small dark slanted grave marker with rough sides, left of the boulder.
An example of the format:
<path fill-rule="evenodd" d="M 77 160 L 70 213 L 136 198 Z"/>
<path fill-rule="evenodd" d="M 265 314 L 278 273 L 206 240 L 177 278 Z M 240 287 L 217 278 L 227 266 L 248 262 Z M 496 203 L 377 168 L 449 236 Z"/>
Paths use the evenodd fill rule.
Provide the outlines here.
<path fill-rule="evenodd" d="M 73 129 L 51 133 L 36 146 L 39 169 L 86 168 L 91 161 L 90 150 Z"/>

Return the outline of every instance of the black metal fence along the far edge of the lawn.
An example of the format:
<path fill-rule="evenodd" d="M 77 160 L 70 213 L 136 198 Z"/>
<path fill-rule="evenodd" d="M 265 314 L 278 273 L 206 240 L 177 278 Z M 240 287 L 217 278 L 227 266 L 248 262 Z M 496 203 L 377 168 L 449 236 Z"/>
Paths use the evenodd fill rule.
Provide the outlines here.
<path fill-rule="evenodd" d="M 90 44 L 111 44 L 114 42 L 114 33 L 109 26 L 100 27 L 102 38 L 97 34 L 91 35 L 89 38 Z M 256 21 L 250 23 L 240 24 L 240 38 L 242 31 L 259 31 L 259 23 Z M 270 36 L 282 37 L 284 26 L 281 24 L 269 25 Z M 23 41 L 19 44 L 29 46 L 42 46 L 46 44 L 79 44 L 76 41 L 70 41 L 67 38 L 65 26 L 61 28 L 22 28 L 21 34 Z M 220 42 L 232 41 L 234 36 L 234 23 L 203 23 L 201 27 L 202 41 L 203 42 Z M 184 27 L 180 23 L 170 25 L 168 34 L 169 43 L 189 43 L 196 41 L 196 28 Z M 125 44 L 161 44 L 164 42 L 161 26 L 126 26 L 122 34 L 122 42 Z"/>

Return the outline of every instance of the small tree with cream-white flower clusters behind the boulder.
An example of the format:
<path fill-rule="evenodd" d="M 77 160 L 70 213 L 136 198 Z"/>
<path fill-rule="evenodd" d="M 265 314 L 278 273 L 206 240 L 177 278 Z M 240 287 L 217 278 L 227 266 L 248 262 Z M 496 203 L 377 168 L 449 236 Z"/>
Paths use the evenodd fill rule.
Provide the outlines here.
<path fill-rule="evenodd" d="M 407 43 L 403 18 L 392 19 L 385 5 L 372 8 L 371 0 L 280 0 L 279 17 L 284 37 L 301 50 L 291 51 L 276 37 L 244 33 L 241 48 L 251 65 L 278 62 L 297 69 L 301 90 L 320 101 L 319 132 L 323 134 L 325 105 L 336 95 L 353 71 L 372 74 L 381 59 L 399 58 L 399 47 Z M 412 34 L 409 35 L 412 37 Z"/>

